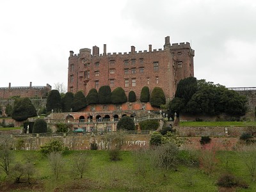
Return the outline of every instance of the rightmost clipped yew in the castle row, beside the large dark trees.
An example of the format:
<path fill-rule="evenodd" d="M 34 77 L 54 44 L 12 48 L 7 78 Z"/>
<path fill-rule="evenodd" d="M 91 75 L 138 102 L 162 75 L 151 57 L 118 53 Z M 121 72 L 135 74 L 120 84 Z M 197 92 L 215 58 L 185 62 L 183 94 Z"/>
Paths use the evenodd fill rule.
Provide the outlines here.
<path fill-rule="evenodd" d="M 165 104 L 166 99 L 162 88 L 155 87 L 150 96 L 150 104 L 156 108 L 160 108 L 161 105 Z"/>

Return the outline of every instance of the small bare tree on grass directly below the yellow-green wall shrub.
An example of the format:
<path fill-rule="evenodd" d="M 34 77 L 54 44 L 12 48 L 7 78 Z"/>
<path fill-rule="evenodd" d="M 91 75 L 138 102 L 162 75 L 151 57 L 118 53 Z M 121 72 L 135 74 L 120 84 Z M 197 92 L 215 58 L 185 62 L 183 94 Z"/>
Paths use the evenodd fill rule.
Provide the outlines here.
<path fill-rule="evenodd" d="M 52 172 L 55 175 L 56 180 L 60 177 L 61 172 L 63 172 L 64 161 L 60 152 L 51 152 L 48 155 L 49 164 L 51 166 Z"/>

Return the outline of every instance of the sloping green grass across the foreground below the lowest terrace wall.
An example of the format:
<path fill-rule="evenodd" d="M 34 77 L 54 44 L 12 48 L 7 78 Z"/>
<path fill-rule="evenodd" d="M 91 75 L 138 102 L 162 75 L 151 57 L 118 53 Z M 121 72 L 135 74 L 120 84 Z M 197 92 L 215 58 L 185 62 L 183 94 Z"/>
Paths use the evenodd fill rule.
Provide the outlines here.
<path fill-rule="evenodd" d="M 110 161 L 106 150 L 67 151 L 63 154 L 65 166 L 60 179 L 56 180 L 46 157 L 38 151 L 13 151 L 15 161 L 25 162 L 24 157 L 30 154 L 35 156 L 34 184 L 21 188 L 17 184 L 12 191 L 218 191 L 216 180 L 222 173 L 228 172 L 243 178 L 250 185 L 249 189 L 237 189 L 236 191 L 256 191 L 256 182 L 250 181 L 250 175 L 244 164 L 243 156 L 239 152 L 219 151 L 216 154 L 217 167 L 211 175 L 205 175 L 198 166 L 186 166 L 179 164 L 178 171 L 159 170 L 152 166 L 147 167 L 147 172 L 141 174 L 136 171 L 136 158 L 131 151 L 121 152 L 121 161 Z M 84 153 L 90 157 L 88 170 L 83 179 L 74 179 L 70 172 L 72 157 Z M 143 166 L 142 164 L 137 164 Z M 0 188 L 2 184 L 12 183 L 4 179 L 4 173 L 0 172 Z M 189 185 L 191 180 L 192 185 Z M 35 184 L 36 183 L 36 184 Z M 12 184 L 10 184 L 12 186 Z"/>

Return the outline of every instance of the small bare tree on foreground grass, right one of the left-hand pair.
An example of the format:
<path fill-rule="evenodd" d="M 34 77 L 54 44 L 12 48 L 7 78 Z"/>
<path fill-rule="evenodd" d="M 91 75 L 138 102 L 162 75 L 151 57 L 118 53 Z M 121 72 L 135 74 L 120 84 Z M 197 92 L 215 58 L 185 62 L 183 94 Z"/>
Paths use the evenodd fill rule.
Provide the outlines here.
<path fill-rule="evenodd" d="M 79 155 L 76 154 L 72 160 L 72 174 L 82 179 L 84 172 L 88 169 L 88 164 L 90 164 L 90 157 L 88 154 L 81 153 Z"/>

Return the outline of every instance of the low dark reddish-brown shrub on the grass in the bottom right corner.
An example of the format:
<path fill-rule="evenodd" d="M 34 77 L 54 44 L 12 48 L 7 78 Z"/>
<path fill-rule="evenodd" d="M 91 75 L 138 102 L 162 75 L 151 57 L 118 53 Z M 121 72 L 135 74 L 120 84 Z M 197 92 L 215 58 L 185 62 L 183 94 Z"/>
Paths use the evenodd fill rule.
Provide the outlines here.
<path fill-rule="evenodd" d="M 217 182 L 218 186 L 225 187 L 225 188 L 234 188 L 234 187 L 240 187 L 240 188 L 248 188 L 248 184 L 241 180 L 240 178 L 238 179 L 234 175 L 230 173 L 225 173 L 221 175 L 221 177 L 218 179 Z"/>

